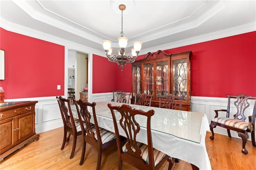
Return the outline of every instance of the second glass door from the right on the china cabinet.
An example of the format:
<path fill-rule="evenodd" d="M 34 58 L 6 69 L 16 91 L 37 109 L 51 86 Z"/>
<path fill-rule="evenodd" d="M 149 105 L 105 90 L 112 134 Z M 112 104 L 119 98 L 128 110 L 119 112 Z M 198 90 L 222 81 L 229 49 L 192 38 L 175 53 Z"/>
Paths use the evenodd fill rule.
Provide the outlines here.
<path fill-rule="evenodd" d="M 169 94 L 169 60 L 156 62 L 156 98 Z"/>

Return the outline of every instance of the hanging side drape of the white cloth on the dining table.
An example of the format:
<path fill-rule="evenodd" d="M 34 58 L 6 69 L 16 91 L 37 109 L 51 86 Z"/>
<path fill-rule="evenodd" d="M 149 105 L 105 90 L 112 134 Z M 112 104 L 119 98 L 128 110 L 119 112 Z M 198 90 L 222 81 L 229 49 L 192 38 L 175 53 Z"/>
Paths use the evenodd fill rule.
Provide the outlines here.
<path fill-rule="evenodd" d="M 96 102 L 96 106 L 97 106 L 97 103 L 98 102 Z M 108 103 L 112 103 L 112 102 L 108 102 Z M 118 105 L 121 105 L 121 104 L 118 104 Z M 77 114 L 76 109 L 72 109 L 72 113 L 73 113 L 73 116 L 76 117 L 76 114 Z M 106 130 L 109 130 L 111 132 L 114 132 L 113 119 L 109 117 L 97 115 L 97 120 L 98 120 L 98 125 L 100 127 L 105 128 Z M 92 121 L 93 121 L 93 117 L 92 117 Z M 208 119 L 205 114 L 202 117 L 201 126 L 200 126 L 200 132 L 199 132 L 201 135 L 200 143 L 178 138 L 171 134 L 159 132 L 156 130 L 151 130 L 153 147 L 156 148 L 157 150 L 160 150 L 161 152 L 164 152 L 168 156 L 171 156 L 173 158 L 178 158 L 180 160 L 184 160 L 188 163 L 194 164 L 195 166 L 197 166 L 202 170 L 211 170 L 212 168 L 211 168 L 210 160 L 209 160 L 208 153 L 206 151 L 206 146 L 205 146 L 205 136 L 206 136 L 207 130 L 210 130 L 210 128 L 208 124 Z M 120 135 L 125 136 L 124 133 L 122 134 L 123 131 L 121 129 L 119 131 L 120 131 Z M 140 133 L 137 134 L 136 139 L 139 142 L 147 144 L 146 135 L 147 135 L 146 128 L 141 127 Z"/>

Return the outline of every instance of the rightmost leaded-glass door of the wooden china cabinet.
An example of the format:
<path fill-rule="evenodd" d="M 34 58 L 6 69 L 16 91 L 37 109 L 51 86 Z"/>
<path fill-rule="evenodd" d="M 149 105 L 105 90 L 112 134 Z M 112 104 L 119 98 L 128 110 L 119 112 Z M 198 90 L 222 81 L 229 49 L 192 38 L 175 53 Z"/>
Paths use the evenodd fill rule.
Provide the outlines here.
<path fill-rule="evenodd" d="M 187 100 L 188 72 L 187 58 L 172 60 L 172 93 L 173 95 L 184 95 Z"/>

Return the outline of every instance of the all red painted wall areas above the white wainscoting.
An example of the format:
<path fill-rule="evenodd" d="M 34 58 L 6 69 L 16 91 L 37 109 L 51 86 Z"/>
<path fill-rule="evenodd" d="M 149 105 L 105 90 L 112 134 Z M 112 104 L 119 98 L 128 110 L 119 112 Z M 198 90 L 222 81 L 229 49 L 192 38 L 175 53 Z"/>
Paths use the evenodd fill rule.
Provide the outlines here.
<path fill-rule="evenodd" d="M 5 50 L 5 99 L 64 95 L 64 46 L 8 32 L 0 28 L 0 49 Z M 256 32 L 165 50 L 192 51 L 191 95 L 256 96 Z M 151 51 L 154 52 L 154 51 Z M 141 55 L 138 59 L 143 58 Z M 93 55 L 92 93 L 132 91 L 132 66 L 123 72 L 106 57 Z M 61 85 L 61 90 L 57 90 Z"/>

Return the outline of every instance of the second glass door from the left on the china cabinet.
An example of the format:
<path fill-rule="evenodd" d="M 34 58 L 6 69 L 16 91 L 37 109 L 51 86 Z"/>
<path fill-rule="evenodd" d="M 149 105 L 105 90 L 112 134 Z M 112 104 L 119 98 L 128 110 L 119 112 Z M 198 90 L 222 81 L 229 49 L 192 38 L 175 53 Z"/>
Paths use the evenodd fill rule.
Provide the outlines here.
<path fill-rule="evenodd" d="M 144 91 L 148 95 L 154 94 L 154 63 L 143 64 Z"/>

